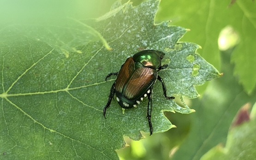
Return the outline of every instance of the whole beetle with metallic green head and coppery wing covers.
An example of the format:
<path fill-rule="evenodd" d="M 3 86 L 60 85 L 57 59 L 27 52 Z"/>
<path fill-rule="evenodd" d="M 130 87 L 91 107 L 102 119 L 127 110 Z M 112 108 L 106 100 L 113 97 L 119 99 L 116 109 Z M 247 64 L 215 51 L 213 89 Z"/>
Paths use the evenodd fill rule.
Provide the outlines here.
<path fill-rule="evenodd" d="M 137 107 L 143 98 L 148 97 L 147 117 L 149 121 L 150 136 L 153 132 L 151 123 L 152 111 L 152 89 L 156 80 L 162 83 L 163 95 L 167 99 L 174 99 L 173 96 L 167 96 L 167 89 L 164 80 L 158 76 L 157 72 L 168 67 L 167 64 L 161 65 L 165 53 L 157 50 L 143 50 L 135 53 L 132 57 L 126 59 L 118 72 L 109 73 L 105 80 L 111 75 L 117 75 L 108 96 L 107 105 L 103 109 L 103 116 L 106 115 L 106 109 L 116 95 L 120 107 Z M 106 117 L 105 117 L 106 119 Z"/>

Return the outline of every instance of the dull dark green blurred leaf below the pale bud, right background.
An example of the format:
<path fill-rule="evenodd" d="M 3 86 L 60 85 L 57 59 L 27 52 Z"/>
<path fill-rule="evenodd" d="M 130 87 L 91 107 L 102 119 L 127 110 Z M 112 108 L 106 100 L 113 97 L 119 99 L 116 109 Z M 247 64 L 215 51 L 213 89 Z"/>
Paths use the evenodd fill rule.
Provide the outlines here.
<path fill-rule="evenodd" d="M 230 53 L 232 50 L 221 54 L 223 77 L 210 82 L 202 99 L 192 101 L 196 113 L 191 114 L 191 131 L 172 160 L 199 160 L 209 149 L 225 143 L 238 109 L 256 101 L 256 94 L 248 96 L 233 77 Z"/>

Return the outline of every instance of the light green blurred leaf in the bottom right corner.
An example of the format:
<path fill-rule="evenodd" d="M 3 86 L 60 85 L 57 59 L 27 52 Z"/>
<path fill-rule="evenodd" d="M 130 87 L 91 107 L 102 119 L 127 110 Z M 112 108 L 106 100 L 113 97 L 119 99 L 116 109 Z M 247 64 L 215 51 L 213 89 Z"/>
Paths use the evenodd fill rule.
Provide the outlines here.
<path fill-rule="evenodd" d="M 219 144 L 204 154 L 200 160 L 253 160 L 256 157 L 255 132 L 256 119 L 235 126 L 228 132 L 225 148 Z"/>

